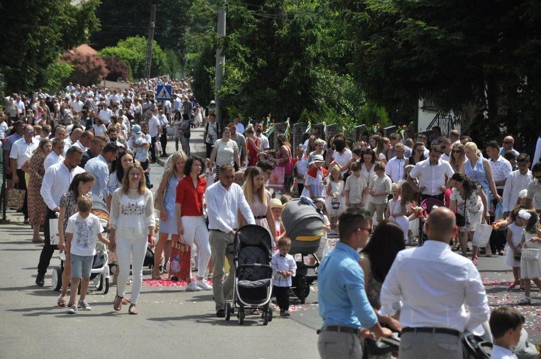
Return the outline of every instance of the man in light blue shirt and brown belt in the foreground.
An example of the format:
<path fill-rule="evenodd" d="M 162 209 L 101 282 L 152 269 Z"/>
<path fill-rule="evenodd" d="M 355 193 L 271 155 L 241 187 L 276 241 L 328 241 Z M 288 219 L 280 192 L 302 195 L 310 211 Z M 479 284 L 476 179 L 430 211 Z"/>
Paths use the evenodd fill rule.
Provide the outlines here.
<path fill-rule="evenodd" d="M 368 211 L 348 208 L 339 218 L 340 242 L 321 261 L 318 274 L 318 331 L 321 358 L 360 358 L 361 328 L 376 336 L 391 336 L 381 328 L 366 296 L 364 272 L 359 265 L 358 248 L 365 246 L 372 231 Z M 363 331 L 364 333 L 365 331 Z"/>

